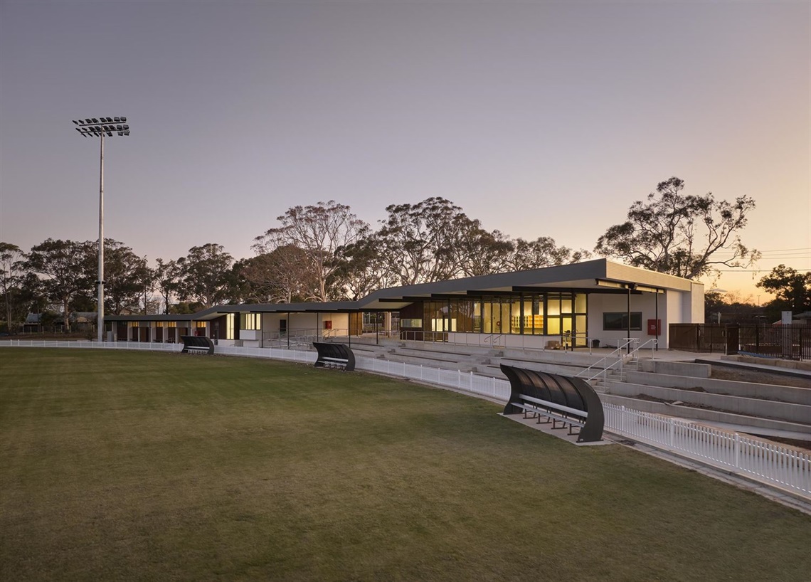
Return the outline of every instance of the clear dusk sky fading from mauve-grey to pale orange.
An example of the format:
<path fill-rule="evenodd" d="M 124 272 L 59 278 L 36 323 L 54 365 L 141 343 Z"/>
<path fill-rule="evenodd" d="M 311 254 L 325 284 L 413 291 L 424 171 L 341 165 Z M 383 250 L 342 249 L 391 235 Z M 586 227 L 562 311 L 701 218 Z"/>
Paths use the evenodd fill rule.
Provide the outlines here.
<path fill-rule="evenodd" d="M 0 241 L 150 260 L 334 199 L 442 196 L 592 250 L 671 176 L 752 196 L 762 272 L 811 270 L 811 2 L 0 2 Z M 710 281 L 707 281 L 708 283 Z"/>

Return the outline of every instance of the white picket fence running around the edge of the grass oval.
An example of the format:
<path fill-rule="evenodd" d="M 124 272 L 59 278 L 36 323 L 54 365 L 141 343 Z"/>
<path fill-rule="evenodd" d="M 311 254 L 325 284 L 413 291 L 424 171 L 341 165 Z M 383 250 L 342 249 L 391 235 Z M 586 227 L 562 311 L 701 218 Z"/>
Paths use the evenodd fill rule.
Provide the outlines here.
<path fill-rule="evenodd" d="M 140 342 L 100 344 L 94 341 L 47 340 L 0 340 L 0 347 L 3 346 L 139 349 L 162 352 L 179 352 L 182 349 L 182 344 Z M 315 363 L 317 357 L 313 351 L 234 346 L 217 346 L 216 352 L 230 356 L 265 357 L 303 363 Z M 443 370 L 371 357 L 357 357 L 355 367 L 358 370 L 375 374 L 386 374 L 449 387 L 461 392 L 470 392 L 476 396 L 486 396 L 501 402 L 506 402 L 510 394 L 507 380 L 480 376 L 472 372 L 462 373 L 458 370 Z M 811 499 L 811 455 L 808 453 L 780 447 L 738 433 L 697 425 L 674 417 L 644 413 L 624 406 L 603 404 L 603 411 L 605 430 L 611 433 L 647 443 L 664 451 L 671 451 L 680 456 Z"/>

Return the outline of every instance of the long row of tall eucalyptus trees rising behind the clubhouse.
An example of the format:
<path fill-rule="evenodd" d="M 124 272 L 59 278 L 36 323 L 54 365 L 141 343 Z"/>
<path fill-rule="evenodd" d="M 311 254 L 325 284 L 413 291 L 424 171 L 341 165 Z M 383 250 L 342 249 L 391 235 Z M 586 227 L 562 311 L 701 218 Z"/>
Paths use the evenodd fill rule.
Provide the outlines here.
<path fill-rule="evenodd" d="M 684 182 L 661 182 L 627 220 L 607 229 L 594 253 L 687 278 L 719 264 L 740 267 L 757 251 L 740 241 L 754 201 L 715 201 L 711 193 L 684 195 Z M 289 208 L 278 225 L 256 237 L 247 259 L 234 259 L 216 242 L 193 246 L 176 259 L 150 266 L 122 242 L 105 239 L 105 312 L 192 313 L 223 303 L 355 300 L 375 289 L 463 276 L 574 263 L 590 251 L 560 246 L 550 237 L 511 238 L 483 228 L 448 199 L 392 204 L 372 228 L 345 204 L 330 200 Z M 719 250 L 724 256 L 718 259 Z M 730 252 L 732 251 L 732 252 Z M 96 310 L 98 242 L 47 239 L 25 252 L 0 242 L 0 285 L 6 325 L 14 330 L 29 312 Z"/>

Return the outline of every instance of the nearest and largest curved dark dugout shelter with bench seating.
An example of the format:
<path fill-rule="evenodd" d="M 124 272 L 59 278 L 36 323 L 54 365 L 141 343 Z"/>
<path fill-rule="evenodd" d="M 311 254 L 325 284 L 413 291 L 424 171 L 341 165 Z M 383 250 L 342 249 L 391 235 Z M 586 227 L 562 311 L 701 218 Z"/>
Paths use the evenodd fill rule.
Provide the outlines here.
<path fill-rule="evenodd" d="M 504 414 L 537 417 L 539 423 L 551 422 L 553 429 L 568 427 L 578 443 L 603 440 L 603 403 L 586 380 L 504 364 L 501 371 L 510 384 Z M 573 432 L 575 427 L 579 432 Z"/>

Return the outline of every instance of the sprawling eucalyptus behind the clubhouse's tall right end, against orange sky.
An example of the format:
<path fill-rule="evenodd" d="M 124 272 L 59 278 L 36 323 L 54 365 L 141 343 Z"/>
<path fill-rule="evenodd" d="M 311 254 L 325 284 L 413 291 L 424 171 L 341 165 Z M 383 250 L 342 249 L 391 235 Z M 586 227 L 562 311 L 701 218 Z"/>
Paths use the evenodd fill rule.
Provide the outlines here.
<path fill-rule="evenodd" d="M 759 257 L 740 240 L 754 199 L 715 200 L 712 193 L 684 195 L 684 181 L 673 177 L 659 182 L 646 202 L 637 200 L 628 220 L 611 226 L 597 240 L 594 251 L 644 267 L 695 279 L 720 265 L 744 267 Z"/>

